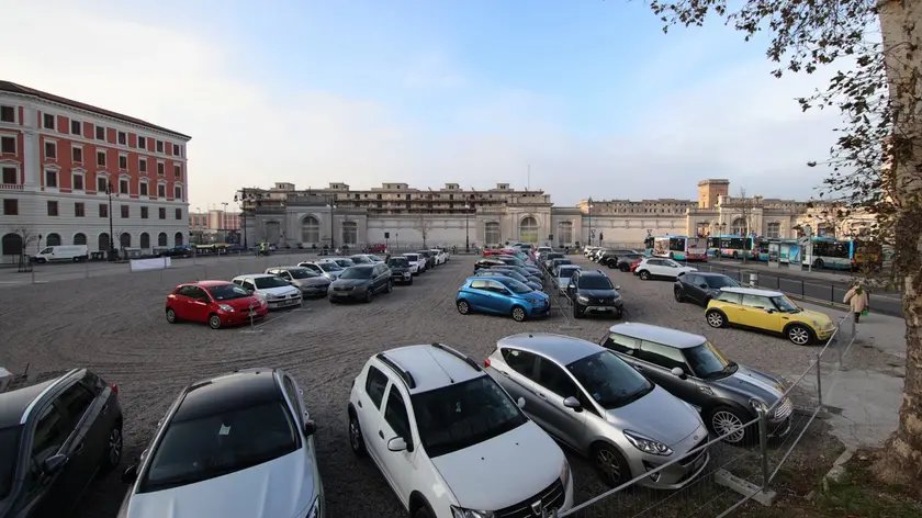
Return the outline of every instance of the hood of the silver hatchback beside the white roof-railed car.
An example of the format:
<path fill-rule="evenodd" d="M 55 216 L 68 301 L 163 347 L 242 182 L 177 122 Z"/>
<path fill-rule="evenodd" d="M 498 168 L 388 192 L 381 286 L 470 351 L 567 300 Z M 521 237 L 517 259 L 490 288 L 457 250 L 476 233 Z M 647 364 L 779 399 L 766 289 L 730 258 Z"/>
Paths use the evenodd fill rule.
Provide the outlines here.
<path fill-rule="evenodd" d="M 627 406 L 607 410 L 605 417 L 620 430 L 644 435 L 668 447 L 701 427 L 701 417 L 694 408 L 659 385 Z"/>

